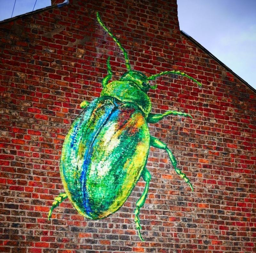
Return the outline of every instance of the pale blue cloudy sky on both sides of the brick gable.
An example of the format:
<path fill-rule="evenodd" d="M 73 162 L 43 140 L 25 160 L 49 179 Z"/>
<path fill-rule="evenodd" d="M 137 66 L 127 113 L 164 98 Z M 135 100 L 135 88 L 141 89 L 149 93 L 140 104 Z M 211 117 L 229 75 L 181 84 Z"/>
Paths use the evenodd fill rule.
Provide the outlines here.
<path fill-rule="evenodd" d="M 0 0 L 0 20 L 51 0 Z M 15 6 L 14 6 L 15 3 Z M 177 0 L 180 29 L 256 89 L 256 0 Z M 13 14 L 12 9 L 14 6 Z"/>

